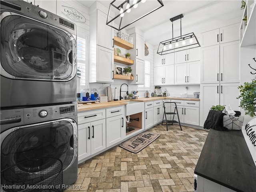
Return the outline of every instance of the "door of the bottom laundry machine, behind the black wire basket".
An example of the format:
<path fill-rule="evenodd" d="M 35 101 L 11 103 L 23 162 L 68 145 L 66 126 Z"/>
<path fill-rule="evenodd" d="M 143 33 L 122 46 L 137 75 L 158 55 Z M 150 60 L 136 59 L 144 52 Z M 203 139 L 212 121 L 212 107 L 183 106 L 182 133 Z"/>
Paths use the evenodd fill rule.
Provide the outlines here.
<path fill-rule="evenodd" d="M 24 172 L 37 172 L 42 165 L 28 162 L 43 157 L 60 159 L 64 170 L 77 156 L 77 138 L 77 124 L 70 118 L 6 130 L 1 133 L 1 170 L 18 164 Z"/>

